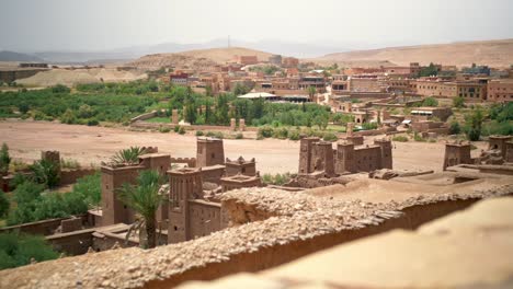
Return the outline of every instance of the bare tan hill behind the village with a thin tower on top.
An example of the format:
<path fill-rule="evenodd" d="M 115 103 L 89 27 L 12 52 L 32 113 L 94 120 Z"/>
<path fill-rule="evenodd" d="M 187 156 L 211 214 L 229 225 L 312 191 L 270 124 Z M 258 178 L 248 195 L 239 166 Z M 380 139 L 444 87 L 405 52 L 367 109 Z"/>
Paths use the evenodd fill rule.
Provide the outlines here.
<path fill-rule="evenodd" d="M 201 68 L 215 63 L 225 63 L 233 60 L 237 55 L 255 55 L 259 60 L 267 60 L 269 53 L 253 50 L 243 47 L 212 48 L 201 50 L 190 50 L 176 54 L 155 54 L 147 55 L 128 63 L 141 69 L 159 69 L 161 67 L 191 67 Z"/>

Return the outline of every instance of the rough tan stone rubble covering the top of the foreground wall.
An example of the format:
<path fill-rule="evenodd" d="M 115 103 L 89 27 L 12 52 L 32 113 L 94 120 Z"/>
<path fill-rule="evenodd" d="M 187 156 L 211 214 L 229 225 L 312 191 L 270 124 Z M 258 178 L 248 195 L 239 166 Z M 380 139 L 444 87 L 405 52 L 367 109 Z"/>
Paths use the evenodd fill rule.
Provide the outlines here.
<path fill-rule="evenodd" d="M 221 263 L 261 247 L 376 226 L 400 210 L 444 200 L 513 194 L 513 185 L 469 194 L 418 196 L 402 203 L 339 201 L 303 193 L 240 189 L 226 200 L 254 204 L 272 216 L 197 240 L 142 251 L 136 247 L 66 257 L 0 271 L 1 288 L 138 288 L 194 267 Z M 278 216 L 280 215 L 280 216 Z M 277 217 L 278 216 L 278 217 Z"/>

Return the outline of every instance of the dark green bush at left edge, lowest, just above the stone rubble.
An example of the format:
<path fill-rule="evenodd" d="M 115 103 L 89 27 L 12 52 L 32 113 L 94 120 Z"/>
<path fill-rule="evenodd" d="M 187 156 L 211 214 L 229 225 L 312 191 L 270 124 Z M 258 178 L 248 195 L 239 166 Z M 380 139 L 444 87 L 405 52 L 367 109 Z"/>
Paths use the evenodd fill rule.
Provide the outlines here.
<path fill-rule="evenodd" d="M 44 236 L 18 232 L 0 234 L 0 269 L 14 268 L 31 263 L 55 259 L 59 253 L 52 248 Z"/>

